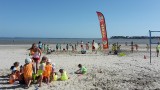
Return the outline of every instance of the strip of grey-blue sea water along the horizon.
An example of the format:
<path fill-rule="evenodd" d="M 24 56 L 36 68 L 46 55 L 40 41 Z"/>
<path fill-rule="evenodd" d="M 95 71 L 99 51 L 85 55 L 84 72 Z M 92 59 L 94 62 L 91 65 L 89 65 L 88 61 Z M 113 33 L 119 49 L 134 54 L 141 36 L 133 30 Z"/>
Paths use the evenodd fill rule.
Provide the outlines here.
<path fill-rule="evenodd" d="M 102 43 L 101 38 L 0 38 L 0 44 L 33 44 L 41 41 L 45 44 L 69 44 L 69 43 L 79 43 L 82 41 L 84 44 L 92 41 L 97 43 Z M 132 41 L 136 44 L 149 44 L 149 39 L 109 39 L 109 44 L 119 43 L 119 44 L 130 44 Z M 159 39 L 152 39 L 152 42 L 158 43 Z"/>

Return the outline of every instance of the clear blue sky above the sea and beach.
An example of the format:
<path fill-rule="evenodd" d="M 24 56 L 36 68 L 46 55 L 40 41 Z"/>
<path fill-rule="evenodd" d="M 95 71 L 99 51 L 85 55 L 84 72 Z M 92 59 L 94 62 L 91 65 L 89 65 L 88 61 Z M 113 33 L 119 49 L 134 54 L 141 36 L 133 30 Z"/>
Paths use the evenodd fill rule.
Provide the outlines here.
<path fill-rule="evenodd" d="M 101 38 L 160 30 L 160 0 L 0 0 L 0 37 Z M 160 35 L 160 33 L 159 33 Z"/>

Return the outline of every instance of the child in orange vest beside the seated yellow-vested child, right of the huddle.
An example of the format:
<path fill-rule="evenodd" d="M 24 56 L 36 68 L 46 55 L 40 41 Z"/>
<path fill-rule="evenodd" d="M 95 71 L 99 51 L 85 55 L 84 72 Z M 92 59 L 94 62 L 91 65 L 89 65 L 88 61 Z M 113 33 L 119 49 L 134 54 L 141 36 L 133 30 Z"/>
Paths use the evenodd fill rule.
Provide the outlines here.
<path fill-rule="evenodd" d="M 46 62 L 45 70 L 43 72 L 43 78 L 45 79 L 45 82 L 47 84 L 49 84 L 50 75 L 51 75 L 51 72 L 52 72 L 52 65 L 51 65 L 50 62 L 51 62 L 51 60 L 48 59 L 47 62 Z"/>

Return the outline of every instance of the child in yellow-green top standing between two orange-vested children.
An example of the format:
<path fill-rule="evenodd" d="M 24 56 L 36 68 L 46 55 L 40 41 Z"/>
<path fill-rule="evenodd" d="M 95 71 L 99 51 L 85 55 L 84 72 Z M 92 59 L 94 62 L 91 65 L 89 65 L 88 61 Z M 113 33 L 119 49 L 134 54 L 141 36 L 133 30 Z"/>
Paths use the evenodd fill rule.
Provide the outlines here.
<path fill-rule="evenodd" d="M 39 87 L 41 87 L 41 84 L 42 84 L 43 72 L 45 70 L 46 61 L 47 61 L 47 57 L 43 56 L 42 61 L 41 61 L 40 66 L 39 66 L 39 70 L 37 71 Z"/>

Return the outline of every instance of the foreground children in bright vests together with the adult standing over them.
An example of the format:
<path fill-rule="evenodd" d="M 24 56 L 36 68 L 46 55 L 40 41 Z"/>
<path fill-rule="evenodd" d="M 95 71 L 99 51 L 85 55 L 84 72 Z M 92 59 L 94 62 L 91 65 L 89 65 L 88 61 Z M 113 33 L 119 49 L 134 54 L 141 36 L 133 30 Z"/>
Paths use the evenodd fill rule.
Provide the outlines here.
<path fill-rule="evenodd" d="M 60 73 L 60 76 L 58 76 L 55 63 L 51 62 L 51 59 L 48 57 L 42 56 L 42 52 L 45 52 L 42 46 L 41 42 L 38 45 L 32 44 L 31 48 L 28 49 L 29 56 L 24 60 L 24 65 L 20 66 L 19 62 L 13 63 L 13 66 L 10 67 L 10 84 L 14 84 L 15 82 L 25 84 L 25 88 L 27 89 L 31 83 L 38 84 L 41 87 L 42 82 L 49 84 L 53 81 L 66 81 L 70 78 L 64 68 L 58 70 Z M 48 50 L 49 48 L 47 48 L 47 52 Z M 75 74 L 86 74 L 86 67 L 82 64 L 78 64 L 77 66 L 79 70 L 75 70 Z"/>

